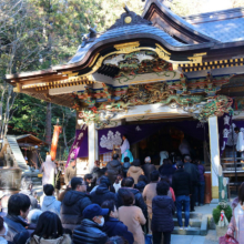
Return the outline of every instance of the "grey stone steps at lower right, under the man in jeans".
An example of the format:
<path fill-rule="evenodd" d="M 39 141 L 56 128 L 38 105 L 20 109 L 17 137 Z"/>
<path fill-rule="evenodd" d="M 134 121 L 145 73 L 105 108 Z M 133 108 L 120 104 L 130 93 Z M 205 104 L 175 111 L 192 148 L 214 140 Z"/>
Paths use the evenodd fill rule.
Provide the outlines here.
<path fill-rule="evenodd" d="M 190 213 L 190 228 L 180 230 L 176 213 L 174 215 L 174 231 L 172 234 L 179 235 L 206 235 L 207 234 L 207 215 L 201 213 Z M 184 226 L 184 212 L 182 212 L 182 222 Z"/>

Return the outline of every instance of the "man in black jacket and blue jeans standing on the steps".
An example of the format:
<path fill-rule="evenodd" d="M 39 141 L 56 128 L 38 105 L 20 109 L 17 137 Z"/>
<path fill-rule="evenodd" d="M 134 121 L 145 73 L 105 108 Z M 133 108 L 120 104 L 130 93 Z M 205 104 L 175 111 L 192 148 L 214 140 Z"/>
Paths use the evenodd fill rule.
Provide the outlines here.
<path fill-rule="evenodd" d="M 177 223 L 180 230 L 183 230 L 182 223 L 182 204 L 185 211 L 185 228 L 189 227 L 190 217 L 190 194 L 192 193 L 191 176 L 184 171 L 184 165 L 181 161 L 176 163 L 177 170 L 174 172 L 172 177 L 172 187 L 176 196 L 176 209 L 177 209 Z"/>

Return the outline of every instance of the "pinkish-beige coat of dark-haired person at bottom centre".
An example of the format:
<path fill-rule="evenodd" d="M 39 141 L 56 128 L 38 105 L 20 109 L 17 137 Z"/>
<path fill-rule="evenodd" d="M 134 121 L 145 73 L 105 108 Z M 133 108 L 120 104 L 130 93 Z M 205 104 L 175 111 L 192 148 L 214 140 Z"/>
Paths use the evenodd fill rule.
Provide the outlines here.
<path fill-rule="evenodd" d="M 119 207 L 119 220 L 128 226 L 129 232 L 133 234 L 134 244 L 144 244 L 144 233 L 142 231 L 143 224 L 146 220 L 142 210 L 138 206 L 121 206 Z"/>

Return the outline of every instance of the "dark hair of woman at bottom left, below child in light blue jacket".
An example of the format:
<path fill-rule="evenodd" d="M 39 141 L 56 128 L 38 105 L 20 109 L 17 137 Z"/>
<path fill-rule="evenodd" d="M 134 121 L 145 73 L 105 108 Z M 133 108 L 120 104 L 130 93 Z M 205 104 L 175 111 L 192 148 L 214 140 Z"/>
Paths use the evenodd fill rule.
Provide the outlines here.
<path fill-rule="evenodd" d="M 59 216 L 50 211 L 43 212 L 38 221 L 34 232 L 31 234 L 41 238 L 58 238 L 63 235 L 63 227 Z"/>

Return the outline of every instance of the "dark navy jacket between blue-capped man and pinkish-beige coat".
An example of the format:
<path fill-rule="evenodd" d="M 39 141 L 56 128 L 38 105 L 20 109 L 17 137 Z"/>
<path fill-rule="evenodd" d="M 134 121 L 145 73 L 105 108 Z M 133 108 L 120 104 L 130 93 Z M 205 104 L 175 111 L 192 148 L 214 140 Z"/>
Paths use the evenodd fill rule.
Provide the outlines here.
<path fill-rule="evenodd" d="M 105 232 L 109 237 L 116 235 L 123 236 L 129 242 L 129 244 L 134 243 L 133 234 L 128 231 L 128 226 L 114 217 L 109 217 L 109 220 L 103 225 L 102 231 Z"/>

